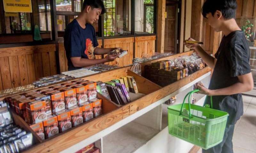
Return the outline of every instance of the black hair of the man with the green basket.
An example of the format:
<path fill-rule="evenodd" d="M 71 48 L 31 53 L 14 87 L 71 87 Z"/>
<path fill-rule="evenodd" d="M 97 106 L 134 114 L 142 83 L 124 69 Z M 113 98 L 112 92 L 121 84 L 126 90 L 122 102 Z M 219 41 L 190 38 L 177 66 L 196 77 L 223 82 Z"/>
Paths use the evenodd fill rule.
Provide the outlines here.
<path fill-rule="evenodd" d="M 236 0 L 206 0 L 202 8 L 202 14 L 206 18 L 206 14 L 214 13 L 219 10 L 224 19 L 236 18 Z"/>

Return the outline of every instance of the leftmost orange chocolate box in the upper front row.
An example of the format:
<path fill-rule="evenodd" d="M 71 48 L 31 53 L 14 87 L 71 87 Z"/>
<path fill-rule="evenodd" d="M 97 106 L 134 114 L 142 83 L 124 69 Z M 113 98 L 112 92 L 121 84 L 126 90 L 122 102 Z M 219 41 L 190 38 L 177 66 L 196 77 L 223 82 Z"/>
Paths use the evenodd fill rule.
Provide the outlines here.
<path fill-rule="evenodd" d="M 27 122 L 29 124 L 36 124 L 46 119 L 46 104 L 45 100 L 38 99 L 26 103 Z"/>

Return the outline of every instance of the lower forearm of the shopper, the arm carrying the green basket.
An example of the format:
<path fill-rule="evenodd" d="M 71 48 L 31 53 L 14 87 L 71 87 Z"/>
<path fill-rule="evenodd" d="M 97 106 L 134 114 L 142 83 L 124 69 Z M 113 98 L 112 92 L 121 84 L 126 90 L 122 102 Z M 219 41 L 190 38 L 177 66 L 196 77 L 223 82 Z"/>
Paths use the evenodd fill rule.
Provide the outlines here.
<path fill-rule="evenodd" d="M 237 93 L 247 92 L 250 90 L 250 85 L 238 82 L 226 88 L 210 90 L 209 96 L 233 95 Z"/>

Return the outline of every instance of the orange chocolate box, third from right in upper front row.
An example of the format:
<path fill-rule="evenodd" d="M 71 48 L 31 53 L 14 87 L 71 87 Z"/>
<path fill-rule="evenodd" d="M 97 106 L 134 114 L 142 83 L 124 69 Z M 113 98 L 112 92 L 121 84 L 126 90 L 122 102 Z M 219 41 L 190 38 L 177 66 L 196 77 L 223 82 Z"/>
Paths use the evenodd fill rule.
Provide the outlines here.
<path fill-rule="evenodd" d="M 66 109 L 77 105 L 75 88 L 66 88 L 61 91 L 64 92 Z"/>

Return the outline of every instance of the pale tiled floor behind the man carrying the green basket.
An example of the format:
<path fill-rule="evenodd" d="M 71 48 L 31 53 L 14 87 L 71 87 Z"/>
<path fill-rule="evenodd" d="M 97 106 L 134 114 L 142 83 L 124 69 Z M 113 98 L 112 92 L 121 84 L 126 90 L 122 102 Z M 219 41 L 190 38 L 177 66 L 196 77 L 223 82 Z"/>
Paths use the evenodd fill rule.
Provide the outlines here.
<path fill-rule="evenodd" d="M 233 136 L 234 153 L 256 153 L 256 97 L 243 95 L 244 115 L 237 121 Z M 202 153 L 200 149 L 197 153 Z"/>

